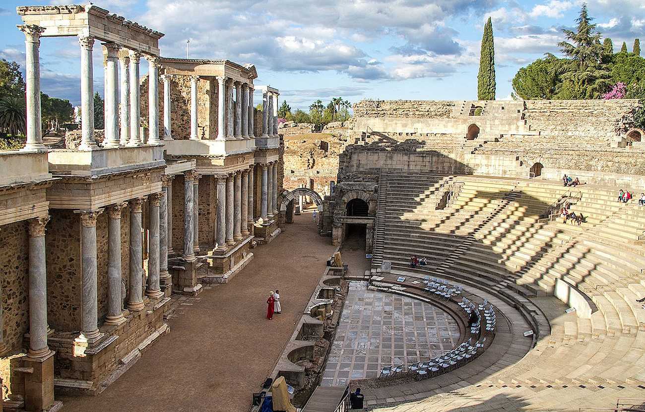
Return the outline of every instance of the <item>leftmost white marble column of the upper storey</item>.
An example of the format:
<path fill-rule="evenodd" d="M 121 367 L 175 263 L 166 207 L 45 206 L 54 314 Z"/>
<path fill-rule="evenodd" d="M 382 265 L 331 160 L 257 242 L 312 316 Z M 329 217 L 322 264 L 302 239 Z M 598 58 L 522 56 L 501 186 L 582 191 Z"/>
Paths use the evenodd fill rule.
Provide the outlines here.
<path fill-rule="evenodd" d="M 27 143 L 23 150 L 47 150 L 43 145 L 40 101 L 40 37 L 45 28 L 36 25 L 21 25 L 25 33 L 25 74 L 26 74 L 26 129 Z"/>

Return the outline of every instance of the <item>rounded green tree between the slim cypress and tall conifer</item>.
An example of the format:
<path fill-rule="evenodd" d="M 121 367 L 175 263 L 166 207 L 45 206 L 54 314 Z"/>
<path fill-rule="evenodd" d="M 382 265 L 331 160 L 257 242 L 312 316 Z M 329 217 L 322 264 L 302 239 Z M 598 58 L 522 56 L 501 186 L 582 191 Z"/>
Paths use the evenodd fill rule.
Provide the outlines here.
<path fill-rule="evenodd" d="M 566 59 L 548 54 L 527 67 L 522 67 L 513 77 L 513 93 L 522 99 L 553 99 L 561 83 L 560 74 Z"/>

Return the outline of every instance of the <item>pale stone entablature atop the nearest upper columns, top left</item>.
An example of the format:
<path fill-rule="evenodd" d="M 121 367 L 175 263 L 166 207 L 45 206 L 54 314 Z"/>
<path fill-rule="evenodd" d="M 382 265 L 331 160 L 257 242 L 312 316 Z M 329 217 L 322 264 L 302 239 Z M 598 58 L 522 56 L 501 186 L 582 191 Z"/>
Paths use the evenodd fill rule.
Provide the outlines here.
<path fill-rule="evenodd" d="M 159 56 L 164 36 L 95 5 L 19 6 L 16 12 L 25 24 L 45 28 L 42 36 L 92 36 L 132 50 Z"/>

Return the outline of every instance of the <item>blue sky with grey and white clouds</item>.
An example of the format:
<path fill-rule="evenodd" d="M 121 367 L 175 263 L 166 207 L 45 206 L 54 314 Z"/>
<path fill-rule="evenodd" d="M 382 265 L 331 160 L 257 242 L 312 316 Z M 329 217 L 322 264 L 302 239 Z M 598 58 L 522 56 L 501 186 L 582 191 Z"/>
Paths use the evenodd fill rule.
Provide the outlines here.
<path fill-rule="evenodd" d="M 558 52 L 579 0 L 97 0 L 95 4 L 165 33 L 162 56 L 253 63 L 256 84 L 281 90 L 292 108 L 342 96 L 474 99 L 483 25 L 493 18 L 497 98 L 507 98 L 517 69 Z M 0 2 L 0 57 L 23 63 L 18 5 Z M 590 14 L 618 50 L 645 39 L 645 0 L 588 0 Z M 94 47 L 95 65 L 102 63 Z M 41 43 L 42 88 L 79 102 L 79 45 L 72 37 Z M 144 69 L 145 65 L 142 65 Z M 142 70 L 145 72 L 145 70 Z M 95 90 L 103 93 L 103 70 Z M 257 98 L 256 98 L 257 100 Z"/>

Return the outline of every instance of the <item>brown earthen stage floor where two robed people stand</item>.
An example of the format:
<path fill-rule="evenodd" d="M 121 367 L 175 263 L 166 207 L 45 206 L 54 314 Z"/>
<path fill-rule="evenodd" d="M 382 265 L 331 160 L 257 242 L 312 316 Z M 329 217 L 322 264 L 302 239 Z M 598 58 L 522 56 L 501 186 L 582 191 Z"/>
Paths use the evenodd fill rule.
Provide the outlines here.
<path fill-rule="evenodd" d="M 246 411 L 273 369 L 294 322 L 334 247 L 311 214 L 253 249 L 226 285 L 177 301 L 169 335 L 97 397 L 59 397 L 64 411 Z M 283 313 L 266 320 L 266 298 L 280 289 Z"/>

